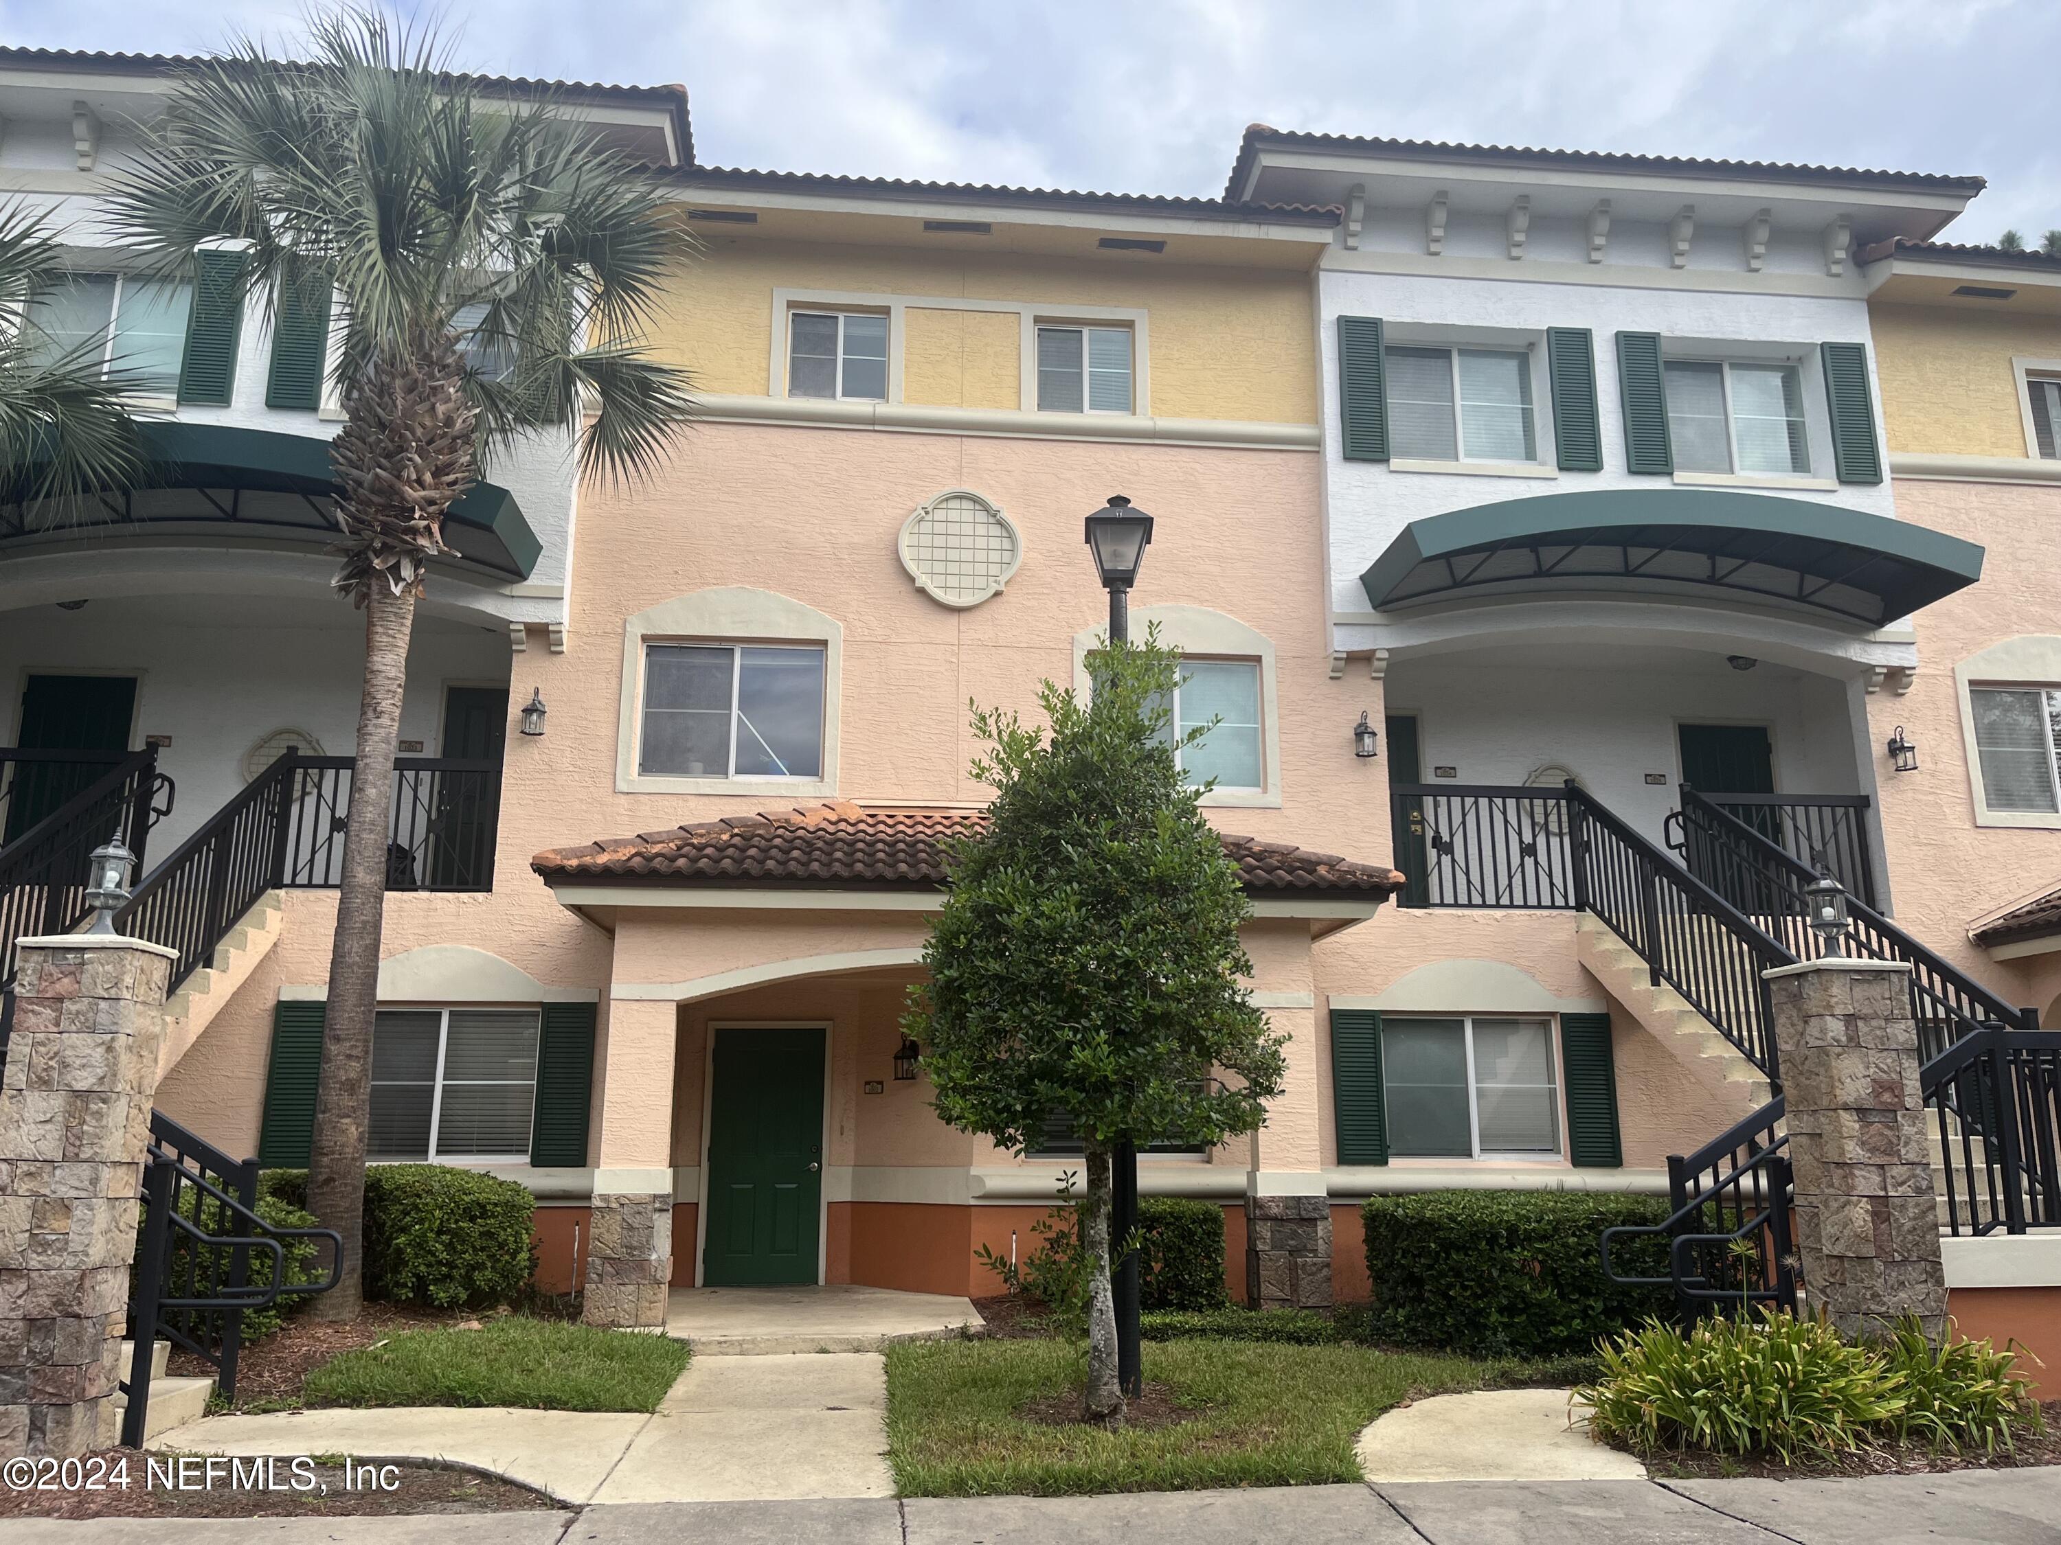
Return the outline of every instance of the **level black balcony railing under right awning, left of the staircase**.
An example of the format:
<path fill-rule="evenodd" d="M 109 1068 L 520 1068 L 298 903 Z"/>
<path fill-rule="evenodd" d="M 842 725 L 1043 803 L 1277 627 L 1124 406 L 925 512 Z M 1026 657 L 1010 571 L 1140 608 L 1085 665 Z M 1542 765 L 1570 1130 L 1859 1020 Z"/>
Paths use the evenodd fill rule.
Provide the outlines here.
<path fill-rule="evenodd" d="M 1397 783 L 1389 810 L 1401 906 L 1575 906 L 1566 789 Z"/>

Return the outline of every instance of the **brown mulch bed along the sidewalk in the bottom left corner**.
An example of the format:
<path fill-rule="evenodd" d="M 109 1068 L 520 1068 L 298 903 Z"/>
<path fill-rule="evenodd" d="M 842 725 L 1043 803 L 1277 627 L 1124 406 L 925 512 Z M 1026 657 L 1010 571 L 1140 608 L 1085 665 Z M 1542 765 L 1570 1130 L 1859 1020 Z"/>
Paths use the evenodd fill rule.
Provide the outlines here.
<path fill-rule="evenodd" d="M 396 1465 L 398 1485 L 392 1491 L 359 1485 L 344 1487 L 344 1473 L 336 1465 L 315 1465 L 313 1477 L 291 1469 L 291 1461 L 276 1461 L 270 1485 L 278 1489 L 251 1489 L 231 1485 L 216 1475 L 212 1487 L 204 1487 L 196 1477 L 194 1489 L 167 1485 L 167 1454 L 150 1454 L 159 1463 L 157 1485 L 150 1483 L 146 1456 L 130 1448 L 109 1448 L 89 1454 L 87 1477 L 103 1481 L 101 1489 L 0 1489 L 0 1518 L 346 1518 L 346 1516 L 387 1516 L 423 1512 L 519 1512 L 528 1508 L 554 1508 L 550 1498 L 515 1485 L 495 1475 L 478 1475 L 466 1469 L 445 1469 L 435 1465 Z M 126 1461 L 126 1469 L 124 1467 Z M 249 1465 L 251 1461 L 245 1461 Z M 126 1475 L 126 1485 L 115 1477 Z M 54 1477 L 62 1479 L 62 1477 Z M 295 1479 L 311 1481 L 311 1487 L 295 1491 Z"/>

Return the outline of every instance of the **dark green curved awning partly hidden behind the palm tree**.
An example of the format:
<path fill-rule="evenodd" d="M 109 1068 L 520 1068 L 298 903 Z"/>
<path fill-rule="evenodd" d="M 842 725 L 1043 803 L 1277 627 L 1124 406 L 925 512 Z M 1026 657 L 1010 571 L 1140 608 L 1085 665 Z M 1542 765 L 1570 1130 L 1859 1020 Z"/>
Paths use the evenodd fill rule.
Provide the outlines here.
<path fill-rule="evenodd" d="M 70 531 L 214 527 L 229 531 L 305 531 L 336 538 L 330 441 L 272 428 L 161 420 L 142 424 L 144 474 L 128 488 L 45 505 L 0 507 L 0 548 Z M 515 494 L 476 482 L 443 521 L 443 540 L 460 562 L 503 579 L 528 579 L 544 546 Z"/>

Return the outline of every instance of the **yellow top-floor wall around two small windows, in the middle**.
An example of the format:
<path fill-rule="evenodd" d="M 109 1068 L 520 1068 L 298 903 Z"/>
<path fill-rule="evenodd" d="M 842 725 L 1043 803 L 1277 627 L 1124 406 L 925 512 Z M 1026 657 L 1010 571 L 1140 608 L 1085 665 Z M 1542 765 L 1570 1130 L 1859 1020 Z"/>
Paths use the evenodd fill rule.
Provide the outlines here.
<path fill-rule="evenodd" d="M 1018 408 L 1018 315 L 919 309 L 923 299 L 1012 301 L 1057 315 L 1123 307 L 1148 313 L 1154 414 L 1315 424 L 1309 286 L 1311 274 L 1294 268 L 709 237 L 651 344 L 684 360 L 703 391 L 765 396 L 775 288 L 903 297 L 905 402 Z"/>

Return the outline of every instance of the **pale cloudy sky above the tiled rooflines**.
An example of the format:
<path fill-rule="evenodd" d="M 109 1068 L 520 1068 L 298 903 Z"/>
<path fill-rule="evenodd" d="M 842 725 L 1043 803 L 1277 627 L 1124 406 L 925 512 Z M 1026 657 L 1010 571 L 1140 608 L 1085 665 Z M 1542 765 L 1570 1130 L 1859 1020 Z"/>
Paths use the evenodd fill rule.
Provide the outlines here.
<path fill-rule="evenodd" d="M 0 39 L 291 45 L 299 0 L 0 0 Z M 1983 173 L 2061 227 L 2061 0 L 449 0 L 478 70 L 684 82 L 725 167 L 1216 194 L 1249 122 Z"/>

